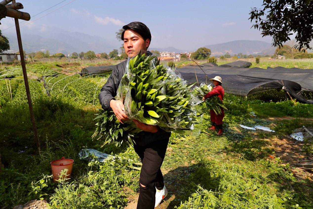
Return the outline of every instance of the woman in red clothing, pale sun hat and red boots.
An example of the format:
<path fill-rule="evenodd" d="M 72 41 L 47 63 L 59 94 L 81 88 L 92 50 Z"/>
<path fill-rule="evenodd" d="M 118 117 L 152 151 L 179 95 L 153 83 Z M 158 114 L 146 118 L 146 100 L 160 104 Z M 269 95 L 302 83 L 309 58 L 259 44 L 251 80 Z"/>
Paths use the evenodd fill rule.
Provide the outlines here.
<path fill-rule="evenodd" d="M 219 76 L 215 76 L 215 78 L 210 79 L 210 81 L 214 84 L 215 87 L 213 87 L 212 91 L 208 92 L 208 94 L 204 95 L 202 100 L 208 99 L 211 96 L 217 96 L 219 99 L 223 101 L 224 98 L 224 89 L 222 87 L 222 78 Z M 218 128 L 217 135 L 223 134 L 223 118 L 224 118 L 224 110 L 221 107 L 221 114 L 216 114 L 214 110 L 210 110 L 211 115 L 211 122 L 212 126 L 209 128 L 209 130 L 216 130 L 216 127 Z"/>

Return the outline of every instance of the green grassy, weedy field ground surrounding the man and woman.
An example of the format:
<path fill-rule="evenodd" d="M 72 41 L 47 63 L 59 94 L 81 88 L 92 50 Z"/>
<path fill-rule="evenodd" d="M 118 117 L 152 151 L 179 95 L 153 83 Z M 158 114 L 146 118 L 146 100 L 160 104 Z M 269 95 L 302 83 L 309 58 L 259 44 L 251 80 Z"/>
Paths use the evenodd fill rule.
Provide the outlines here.
<path fill-rule="evenodd" d="M 218 60 L 218 64 L 230 61 Z M 309 59 L 262 58 L 258 65 L 255 59 L 245 61 L 252 67 L 313 69 L 313 60 Z M 101 147 L 101 140 L 91 139 L 93 119 L 100 108 L 97 94 L 109 74 L 80 79 L 75 72 L 90 65 L 114 64 L 27 64 L 39 151 L 21 67 L 0 67 L 0 79 L 5 73 L 15 76 L 10 81 L 0 80 L 0 153 L 4 164 L 0 172 L 0 209 L 35 199 L 46 201 L 49 208 L 125 208 L 135 202 L 138 170 L 123 162 L 86 162 L 77 156 L 80 150 L 93 148 L 139 163 L 132 147 Z M 39 82 L 42 76 L 51 96 L 47 96 L 43 81 Z M 210 117 L 208 108 L 202 105 L 205 114 L 199 137 L 172 133 L 161 168 L 169 195 L 159 208 L 313 208 L 312 171 L 293 166 L 298 160 L 312 159 L 313 141 L 299 142 L 289 137 L 296 128 L 313 127 L 313 105 L 279 98 L 278 91 L 248 98 L 225 94 L 228 110 L 220 137 L 207 129 Z M 252 117 L 250 112 L 257 116 Z M 239 124 L 266 126 L 275 132 L 252 131 Z M 50 162 L 61 157 L 74 159 L 73 170 L 69 181 L 56 184 Z"/>

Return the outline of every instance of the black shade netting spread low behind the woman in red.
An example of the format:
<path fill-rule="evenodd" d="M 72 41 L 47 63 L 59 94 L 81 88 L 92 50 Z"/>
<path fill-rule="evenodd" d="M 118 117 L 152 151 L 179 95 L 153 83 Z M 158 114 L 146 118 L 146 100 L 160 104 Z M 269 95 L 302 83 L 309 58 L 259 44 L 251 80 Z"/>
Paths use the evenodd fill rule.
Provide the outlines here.
<path fill-rule="evenodd" d="M 210 78 L 222 77 L 222 86 L 226 93 L 248 96 L 270 89 L 284 89 L 299 102 L 313 104 L 302 91 L 313 91 L 313 69 L 268 67 L 247 68 L 250 62 L 237 61 L 221 66 L 205 63 L 176 68 L 188 83 L 211 83 Z"/>

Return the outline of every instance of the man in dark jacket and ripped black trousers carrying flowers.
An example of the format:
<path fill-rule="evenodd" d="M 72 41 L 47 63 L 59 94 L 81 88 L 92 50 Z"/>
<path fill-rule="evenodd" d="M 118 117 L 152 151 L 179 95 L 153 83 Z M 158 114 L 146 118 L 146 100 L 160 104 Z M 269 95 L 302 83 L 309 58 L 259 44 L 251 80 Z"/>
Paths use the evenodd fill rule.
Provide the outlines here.
<path fill-rule="evenodd" d="M 123 26 L 123 29 L 121 39 L 124 41 L 125 53 L 130 58 L 143 51 L 146 52 L 146 55 L 151 55 L 151 52 L 146 51 L 151 42 L 151 33 L 145 24 L 131 22 Z M 115 96 L 125 74 L 126 65 L 127 60 L 115 65 L 99 94 L 102 108 L 104 110 L 112 110 L 121 123 L 129 120 L 129 118 L 124 113 L 123 101 L 115 100 Z M 171 132 L 166 132 L 158 126 L 145 124 L 138 120 L 133 121 L 143 132 L 134 140 L 135 152 L 142 162 L 137 208 L 152 209 L 158 206 L 167 196 L 167 189 L 164 185 L 163 174 L 160 168 L 165 157 Z"/>

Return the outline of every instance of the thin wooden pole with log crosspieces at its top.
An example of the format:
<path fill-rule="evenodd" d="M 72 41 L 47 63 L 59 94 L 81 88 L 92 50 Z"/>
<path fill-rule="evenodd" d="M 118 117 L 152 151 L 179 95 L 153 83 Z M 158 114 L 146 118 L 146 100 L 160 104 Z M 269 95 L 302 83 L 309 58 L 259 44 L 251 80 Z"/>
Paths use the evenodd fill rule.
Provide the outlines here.
<path fill-rule="evenodd" d="M 7 5 L 10 2 L 12 2 L 12 4 Z M 15 0 L 4 0 L 0 2 L 0 19 L 5 18 L 5 17 L 12 17 L 14 18 L 14 21 L 15 21 L 16 35 L 18 38 L 18 48 L 19 48 L 20 57 L 21 57 L 21 64 L 22 64 L 22 69 L 23 69 L 23 77 L 24 77 L 26 95 L 27 95 L 27 100 L 28 100 L 29 113 L 30 113 L 30 117 L 32 120 L 32 124 L 33 124 L 33 131 L 35 135 L 37 148 L 38 150 L 40 150 L 37 126 L 36 126 L 35 116 L 33 112 L 33 104 L 32 104 L 32 99 L 30 97 L 30 91 L 29 91 L 29 85 L 28 85 L 21 32 L 20 32 L 20 27 L 18 23 L 18 19 L 23 19 L 27 21 L 30 20 L 30 15 L 26 12 L 20 12 L 20 11 L 15 10 L 15 9 L 21 9 L 21 8 L 23 8 L 23 5 L 21 3 L 15 3 Z"/>

